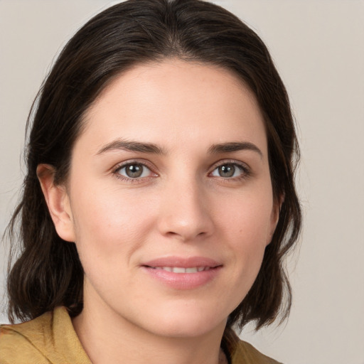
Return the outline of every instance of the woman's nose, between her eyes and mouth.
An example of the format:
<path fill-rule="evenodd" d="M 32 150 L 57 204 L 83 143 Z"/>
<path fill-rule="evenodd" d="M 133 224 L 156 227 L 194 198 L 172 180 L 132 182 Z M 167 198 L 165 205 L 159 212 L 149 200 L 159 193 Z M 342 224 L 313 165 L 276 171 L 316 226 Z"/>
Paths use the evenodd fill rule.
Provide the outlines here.
<path fill-rule="evenodd" d="M 161 198 L 159 232 L 183 242 L 210 236 L 214 224 L 208 205 L 208 193 L 196 178 L 171 181 Z"/>

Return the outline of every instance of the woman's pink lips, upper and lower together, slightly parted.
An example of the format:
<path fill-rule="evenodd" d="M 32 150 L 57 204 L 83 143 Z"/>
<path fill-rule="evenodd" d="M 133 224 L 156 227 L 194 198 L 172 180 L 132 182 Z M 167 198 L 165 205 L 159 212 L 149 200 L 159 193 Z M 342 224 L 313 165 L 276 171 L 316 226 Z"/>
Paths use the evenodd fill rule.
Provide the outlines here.
<path fill-rule="evenodd" d="M 168 272 L 161 267 L 205 267 L 200 272 Z M 196 289 L 213 281 L 223 268 L 223 264 L 207 257 L 161 257 L 141 264 L 141 268 L 152 279 L 171 289 Z M 158 269 L 159 268 L 159 269 Z"/>

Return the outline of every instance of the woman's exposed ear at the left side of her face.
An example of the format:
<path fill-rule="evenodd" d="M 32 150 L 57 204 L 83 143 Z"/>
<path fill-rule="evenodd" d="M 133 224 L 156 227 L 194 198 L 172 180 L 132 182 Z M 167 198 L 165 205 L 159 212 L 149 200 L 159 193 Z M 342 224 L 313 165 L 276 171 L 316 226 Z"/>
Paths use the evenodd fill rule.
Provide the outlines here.
<path fill-rule="evenodd" d="M 75 242 L 75 228 L 70 208 L 70 198 L 65 186 L 55 185 L 55 170 L 49 164 L 39 164 L 37 176 L 41 183 L 45 202 L 48 205 L 55 230 L 63 240 Z"/>

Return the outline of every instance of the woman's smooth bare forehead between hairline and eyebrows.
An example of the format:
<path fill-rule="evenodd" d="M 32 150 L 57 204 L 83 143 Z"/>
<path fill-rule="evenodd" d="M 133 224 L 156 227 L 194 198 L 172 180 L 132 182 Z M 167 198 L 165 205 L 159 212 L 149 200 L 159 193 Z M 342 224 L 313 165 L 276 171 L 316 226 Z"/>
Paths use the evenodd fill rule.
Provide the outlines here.
<path fill-rule="evenodd" d="M 136 65 L 97 97 L 84 122 L 80 139 L 95 147 L 122 137 L 166 149 L 183 141 L 187 146 L 233 139 L 265 149 L 255 96 L 232 71 L 205 63 L 165 60 Z"/>

